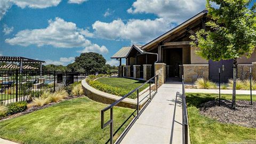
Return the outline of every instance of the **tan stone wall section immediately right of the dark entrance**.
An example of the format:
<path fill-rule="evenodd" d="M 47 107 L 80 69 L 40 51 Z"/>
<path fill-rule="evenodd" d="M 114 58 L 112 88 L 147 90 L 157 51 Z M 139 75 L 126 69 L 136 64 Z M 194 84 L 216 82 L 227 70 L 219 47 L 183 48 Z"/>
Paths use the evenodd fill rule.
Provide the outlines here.
<path fill-rule="evenodd" d="M 197 78 L 209 78 L 209 65 L 183 65 L 184 81 L 194 83 Z"/>

